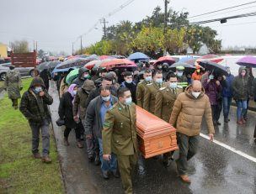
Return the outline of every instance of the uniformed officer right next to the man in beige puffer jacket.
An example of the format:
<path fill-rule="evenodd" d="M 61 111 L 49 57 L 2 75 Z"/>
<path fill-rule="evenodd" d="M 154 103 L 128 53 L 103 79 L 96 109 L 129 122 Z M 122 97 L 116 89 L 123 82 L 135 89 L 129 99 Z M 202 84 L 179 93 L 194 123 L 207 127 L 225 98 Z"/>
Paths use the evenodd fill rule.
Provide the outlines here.
<path fill-rule="evenodd" d="M 173 104 L 179 95 L 183 92 L 182 87 L 177 87 L 177 76 L 173 72 L 169 72 L 167 75 L 168 87 L 162 87 L 157 92 L 156 105 L 155 105 L 155 115 L 158 118 L 162 118 L 164 121 L 168 122 L 173 110 Z M 170 160 L 172 159 L 172 152 L 168 152 L 163 155 L 163 165 L 168 166 Z"/>

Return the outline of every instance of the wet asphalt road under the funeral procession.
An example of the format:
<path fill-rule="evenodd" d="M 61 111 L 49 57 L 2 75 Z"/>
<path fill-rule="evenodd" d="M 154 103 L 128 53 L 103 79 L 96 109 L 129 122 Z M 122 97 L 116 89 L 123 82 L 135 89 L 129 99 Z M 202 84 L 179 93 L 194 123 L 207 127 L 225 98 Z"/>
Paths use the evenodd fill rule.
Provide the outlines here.
<path fill-rule="evenodd" d="M 53 121 L 57 116 L 58 96 L 51 87 L 54 104 L 51 106 Z M 231 122 L 216 128 L 216 139 L 235 149 L 256 157 L 253 142 L 255 113 L 249 113 L 248 124 L 237 127 L 235 109 L 232 108 Z M 222 118 L 220 119 L 223 123 Z M 120 179 L 111 177 L 105 181 L 99 166 L 88 163 L 86 149 L 76 147 L 74 133 L 70 134 L 70 146 L 63 145 L 63 129 L 53 122 L 57 149 L 61 160 L 62 174 L 67 193 L 123 193 Z M 207 134 L 205 124 L 202 133 Z M 175 153 L 177 158 L 178 152 Z M 189 176 L 192 181 L 187 185 L 179 180 L 176 165 L 163 167 L 161 158 L 140 158 L 133 174 L 134 193 L 256 193 L 256 163 L 232 151 L 200 138 L 200 150 L 189 160 Z"/>

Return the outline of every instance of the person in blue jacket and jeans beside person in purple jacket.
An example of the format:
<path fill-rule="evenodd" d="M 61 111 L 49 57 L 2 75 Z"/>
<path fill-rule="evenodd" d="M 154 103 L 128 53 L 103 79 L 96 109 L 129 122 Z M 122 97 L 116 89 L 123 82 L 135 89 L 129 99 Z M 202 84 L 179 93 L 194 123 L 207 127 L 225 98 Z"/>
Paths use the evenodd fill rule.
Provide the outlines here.
<path fill-rule="evenodd" d="M 232 81 L 234 76 L 231 74 L 230 68 L 227 67 L 228 76 L 226 76 L 226 87 L 222 87 L 222 97 L 223 97 L 223 115 L 224 115 L 224 122 L 228 123 L 229 118 L 229 110 L 232 102 Z"/>

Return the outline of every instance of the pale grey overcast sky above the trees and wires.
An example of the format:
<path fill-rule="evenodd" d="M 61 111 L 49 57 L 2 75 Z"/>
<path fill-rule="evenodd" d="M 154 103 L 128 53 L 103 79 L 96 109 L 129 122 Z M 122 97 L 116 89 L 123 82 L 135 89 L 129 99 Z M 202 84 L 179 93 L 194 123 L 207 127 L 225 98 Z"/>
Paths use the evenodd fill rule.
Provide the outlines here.
<path fill-rule="evenodd" d="M 38 41 L 38 49 L 51 51 L 72 52 L 72 42 L 77 50 L 80 42 L 77 37 L 88 32 L 99 18 L 111 13 L 127 0 L 1 0 L 0 11 L 0 42 L 7 44 L 10 41 L 27 39 L 33 49 L 33 40 Z M 168 4 L 175 11 L 188 11 L 189 16 L 207 13 L 221 8 L 228 8 L 251 0 L 170 0 Z M 117 24 L 121 20 L 138 22 L 147 15 L 151 15 L 157 5 L 163 8 L 163 0 L 135 0 L 127 7 L 107 18 L 107 25 Z M 238 10 L 242 9 L 243 10 Z M 256 11 L 256 3 L 247 5 L 231 12 L 213 13 L 211 15 L 194 18 L 193 21 L 202 21 L 211 18 L 222 18 L 241 13 Z M 228 12 L 228 13 L 227 13 Z M 255 17 L 238 18 L 227 21 L 227 24 L 207 24 L 216 29 L 222 45 L 256 46 Z M 91 45 L 102 37 L 102 24 L 97 29 L 83 35 L 83 46 Z"/>

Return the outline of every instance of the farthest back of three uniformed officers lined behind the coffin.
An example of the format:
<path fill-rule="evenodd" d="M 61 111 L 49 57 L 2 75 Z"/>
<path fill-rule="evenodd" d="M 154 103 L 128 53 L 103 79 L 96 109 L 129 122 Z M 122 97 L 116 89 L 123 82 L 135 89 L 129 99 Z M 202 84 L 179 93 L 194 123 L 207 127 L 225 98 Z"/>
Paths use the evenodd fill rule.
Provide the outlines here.
<path fill-rule="evenodd" d="M 137 105 L 140 107 L 143 107 L 145 87 L 152 82 L 152 71 L 149 69 L 144 71 L 143 78 L 144 80 L 139 82 L 136 88 Z"/>

